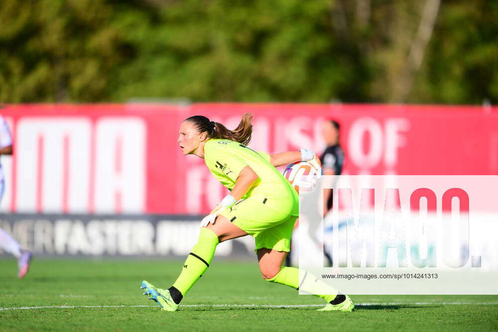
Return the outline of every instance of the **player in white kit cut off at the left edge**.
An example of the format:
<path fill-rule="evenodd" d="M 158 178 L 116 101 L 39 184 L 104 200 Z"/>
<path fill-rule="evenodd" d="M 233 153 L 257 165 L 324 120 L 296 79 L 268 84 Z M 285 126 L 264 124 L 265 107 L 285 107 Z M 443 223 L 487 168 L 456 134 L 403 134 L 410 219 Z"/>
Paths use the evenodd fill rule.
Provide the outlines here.
<path fill-rule="evenodd" d="M 10 136 L 10 131 L 8 130 L 7 123 L 0 115 L 0 155 L 2 154 L 12 154 L 12 137 Z M 3 170 L 0 164 L 0 202 L 3 196 L 3 190 L 5 188 L 5 179 L 3 176 Z M 29 269 L 29 263 L 33 253 L 29 250 L 25 250 L 21 247 L 16 240 L 12 238 L 5 230 L 0 228 L 0 247 L 3 251 L 11 253 L 17 258 L 17 263 L 19 266 L 19 278 L 26 275 Z"/>

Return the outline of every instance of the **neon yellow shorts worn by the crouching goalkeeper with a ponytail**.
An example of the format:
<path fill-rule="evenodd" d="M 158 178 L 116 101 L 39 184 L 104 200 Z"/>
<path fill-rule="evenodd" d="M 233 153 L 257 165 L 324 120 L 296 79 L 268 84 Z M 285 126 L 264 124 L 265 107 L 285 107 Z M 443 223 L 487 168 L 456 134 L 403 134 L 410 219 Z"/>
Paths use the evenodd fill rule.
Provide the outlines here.
<path fill-rule="evenodd" d="M 268 248 L 288 252 L 298 217 L 275 211 L 267 201 L 260 195 L 250 196 L 221 215 L 254 237 L 256 250 Z"/>

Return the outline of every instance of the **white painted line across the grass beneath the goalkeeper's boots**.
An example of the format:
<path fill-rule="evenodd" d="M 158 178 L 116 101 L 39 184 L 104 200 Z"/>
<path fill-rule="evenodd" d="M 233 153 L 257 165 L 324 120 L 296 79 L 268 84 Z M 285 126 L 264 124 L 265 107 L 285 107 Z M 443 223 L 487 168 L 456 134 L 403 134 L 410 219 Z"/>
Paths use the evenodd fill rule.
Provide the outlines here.
<path fill-rule="evenodd" d="M 498 302 L 367 302 L 367 303 L 357 303 L 357 307 L 369 307 L 369 306 L 428 306 L 428 305 L 476 305 L 476 306 L 493 306 L 498 305 Z M 309 307 L 323 307 L 323 304 L 190 304 L 184 305 L 182 307 L 187 308 L 198 308 L 198 307 L 208 307 L 208 308 L 219 308 L 219 307 L 231 307 L 231 308 L 309 308 Z M 41 307 L 12 307 L 12 308 L 0 308 L 0 311 L 4 310 L 34 310 L 34 309 L 78 309 L 78 308 L 149 308 L 157 306 L 41 306 Z"/>

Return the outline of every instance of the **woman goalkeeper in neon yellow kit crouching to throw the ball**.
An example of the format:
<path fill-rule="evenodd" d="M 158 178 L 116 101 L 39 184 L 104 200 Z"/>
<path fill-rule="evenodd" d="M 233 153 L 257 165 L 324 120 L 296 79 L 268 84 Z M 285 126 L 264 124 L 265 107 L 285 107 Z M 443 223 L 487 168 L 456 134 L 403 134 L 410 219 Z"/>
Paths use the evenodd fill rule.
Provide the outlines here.
<path fill-rule="evenodd" d="M 301 273 L 299 280 L 298 269 L 282 268 L 299 216 L 299 199 L 275 167 L 300 160 L 316 162 L 317 158 L 307 149 L 274 155 L 251 150 L 246 146 L 252 133 L 251 119 L 250 113 L 244 114 L 235 130 L 201 115 L 191 116 L 180 125 L 178 143 L 183 154 L 204 158 L 211 173 L 231 193 L 202 220 L 199 240 L 173 286 L 160 289 L 143 281 L 143 294 L 163 310 L 176 311 L 208 269 L 218 243 L 249 234 L 256 242 L 259 269 L 266 281 L 310 294 L 328 294 L 316 295 L 327 301 L 320 310 L 352 311 L 355 306 L 348 296 L 338 294 L 310 273 Z"/>

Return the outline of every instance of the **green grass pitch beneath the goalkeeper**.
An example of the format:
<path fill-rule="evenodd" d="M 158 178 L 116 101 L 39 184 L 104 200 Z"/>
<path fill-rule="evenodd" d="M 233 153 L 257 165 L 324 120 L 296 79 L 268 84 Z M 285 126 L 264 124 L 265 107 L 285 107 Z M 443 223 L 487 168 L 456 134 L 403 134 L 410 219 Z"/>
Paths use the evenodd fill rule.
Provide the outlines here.
<path fill-rule="evenodd" d="M 140 282 L 169 287 L 181 264 L 39 258 L 17 280 L 16 261 L 0 259 L 0 331 L 498 330 L 498 296 L 352 296 L 359 304 L 352 313 L 281 307 L 323 301 L 265 282 L 255 260 L 215 259 L 184 307 L 162 312 L 142 295 Z"/>

